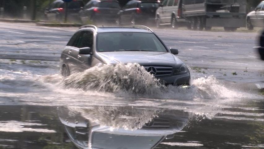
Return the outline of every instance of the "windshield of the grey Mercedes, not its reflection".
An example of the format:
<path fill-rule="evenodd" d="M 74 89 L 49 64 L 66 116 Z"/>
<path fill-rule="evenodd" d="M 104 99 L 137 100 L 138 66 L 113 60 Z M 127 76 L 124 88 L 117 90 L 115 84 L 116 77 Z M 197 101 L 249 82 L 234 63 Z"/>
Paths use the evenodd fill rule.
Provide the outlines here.
<path fill-rule="evenodd" d="M 154 51 L 167 52 L 152 33 L 113 32 L 97 34 L 97 51 Z"/>

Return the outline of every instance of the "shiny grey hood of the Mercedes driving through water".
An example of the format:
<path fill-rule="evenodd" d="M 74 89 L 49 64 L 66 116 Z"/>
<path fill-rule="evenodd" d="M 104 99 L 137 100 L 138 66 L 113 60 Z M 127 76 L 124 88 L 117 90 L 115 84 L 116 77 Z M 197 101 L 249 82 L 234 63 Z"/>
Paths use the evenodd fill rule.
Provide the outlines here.
<path fill-rule="evenodd" d="M 183 62 L 169 52 L 122 51 L 98 52 L 104 63 L 138 63 L 140 65 L 181 65 Z"/>

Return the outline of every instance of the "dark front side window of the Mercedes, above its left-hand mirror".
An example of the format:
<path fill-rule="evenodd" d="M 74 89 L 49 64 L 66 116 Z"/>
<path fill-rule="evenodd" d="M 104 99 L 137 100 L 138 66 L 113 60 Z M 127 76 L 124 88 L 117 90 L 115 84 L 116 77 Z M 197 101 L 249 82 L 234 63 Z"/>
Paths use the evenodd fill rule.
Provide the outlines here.
<path fill-rule="evenodd" d="M 73 47 L 90 47 L 93 48 L 93 32 L 92 31 L 81 31 Z"/>

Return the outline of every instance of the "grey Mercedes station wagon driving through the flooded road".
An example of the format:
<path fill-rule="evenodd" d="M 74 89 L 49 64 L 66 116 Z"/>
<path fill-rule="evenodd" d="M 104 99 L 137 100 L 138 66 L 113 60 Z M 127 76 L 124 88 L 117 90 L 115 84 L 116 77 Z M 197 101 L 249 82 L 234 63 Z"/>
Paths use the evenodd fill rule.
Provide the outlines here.
<path fill-rule="evenodd" d="M 67 77 L 102 64 L 138 63 L 162 84 L 189 84 L 190 72 L 148 27 L 101 27 L 84 25 L 72 36 L 61 54 L 62 75 Z"/>

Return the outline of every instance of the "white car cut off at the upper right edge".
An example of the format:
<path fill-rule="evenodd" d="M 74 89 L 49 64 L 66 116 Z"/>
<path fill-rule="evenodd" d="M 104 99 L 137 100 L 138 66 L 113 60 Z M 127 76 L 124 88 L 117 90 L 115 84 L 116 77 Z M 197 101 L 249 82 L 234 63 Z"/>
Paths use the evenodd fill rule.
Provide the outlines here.
<path fill-rule="evenodd" d="M 260 2 L 254 11 L 247 15 L 247 28 L 253 30 L 254 27 L 264 27 L 264 1 Z"/>

